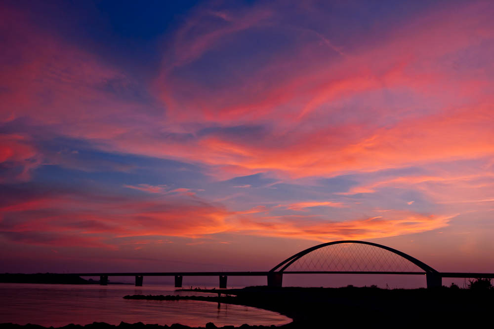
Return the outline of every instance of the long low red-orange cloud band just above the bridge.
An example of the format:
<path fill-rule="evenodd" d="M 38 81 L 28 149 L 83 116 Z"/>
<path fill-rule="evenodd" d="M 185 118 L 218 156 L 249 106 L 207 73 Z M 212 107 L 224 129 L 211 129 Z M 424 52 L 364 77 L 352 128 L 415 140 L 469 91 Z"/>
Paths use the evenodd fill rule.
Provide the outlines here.
<path fill-rule="evenodd" d="M 436 229 L 448 225 L 453 217 L 388 210 L 379 217 L 328 221 L 322 215 L 273 216 L 264 206 L 248 211 L 228 211 L 221 205 L 183 195 L 140 199 L 80 191 L 43 197 L 19 195 L 17 201 L 9 203 L 0 208 L 0 233 L 7 239 L 29 244 L 86 247 L 114 244 L 107 241 L 117 237 L 198 238 L 216 233 L 320 241 L 370 239 Z M 299 211 L 318 205 L 341 207 L 327 202 L 300 202 L 285 207 Z M 6 220 L 12 217 L 16 220 Z M 79 239 L 71 241 L 73 236 Z M 118 248 L 118 245 L 111 248 Z"/>

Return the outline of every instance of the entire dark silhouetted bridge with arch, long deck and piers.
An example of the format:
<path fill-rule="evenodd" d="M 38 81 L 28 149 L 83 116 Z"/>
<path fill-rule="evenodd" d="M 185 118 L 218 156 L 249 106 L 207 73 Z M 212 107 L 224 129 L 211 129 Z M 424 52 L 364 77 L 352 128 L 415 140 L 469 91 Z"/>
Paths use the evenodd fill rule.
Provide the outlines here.
<path fill-rule="evenodd" d="M 323 243 L 308 248 L 288 257 L 268 272 L 75 273 L 78 276 L 99 276 L 101 285 L 108 284 L 109 276 L 135 276 L 136 286 L 142 286 L 144 276 L 174 276 L 175 287 L 182 287 L 184 276 L 218 276 L 220 288 L 226 288 L 228 276 L 266 276 L 268 286 L 281 287 L 283 274 L 425 275 L 427 288 L 441 287 L 442 278 L 494 278 L 494 273 L 438 272 L 396 249 L 351 240 Z"/>

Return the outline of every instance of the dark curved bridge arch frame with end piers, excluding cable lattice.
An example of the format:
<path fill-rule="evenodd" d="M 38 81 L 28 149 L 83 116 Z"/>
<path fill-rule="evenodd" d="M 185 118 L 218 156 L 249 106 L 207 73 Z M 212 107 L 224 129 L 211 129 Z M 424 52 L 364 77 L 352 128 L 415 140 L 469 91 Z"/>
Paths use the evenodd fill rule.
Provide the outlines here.
<path fill-rule="evenodd" d="M 426 278 L 427 278 L 427 287 L 428 288 L 431 288 L 431 287 L 440 287 L 441 284 L 442 284 L 442 280 L 441 280 L 441 275 L 440 273 L 435 270 L 434 268 L 432 268 L 431 266 L 427 265 L 426 263 L 418 260 L 417 258 L 415 257 L 412 257 L 408 254 L 405 254 L 399 250 L 396 250 L 396 249 L 393 249 L 393 248 L 390 248 L 390 247 L 387 247 L 387 246 L 383 246 L 383 245 L 380 245 L 380 244 L 377 244 L 377 243 L 373 243 L 373 242 L 367 242 L 367 241 L 357 241 L 357 240 L 342 240 L 342 241 L 333 241 L 333 242 L 328 242 L 328 243 L 323 243 L 323 244 L 320 244 L 320 245 L 317 245 L 317 246 L 314 246 L 314 247 L 311 247 L 311 248 L 307 248 L 295 255 L 292 255 L 290 257 L 288 257 L 287 259 L 285 259 L 284 261 L 282 261 L 281 263 L 279 263 L 278 265 L 276 265 L 275 267 L 273 267 L 269 273 L 270 275 L 268 275 L 268 283 L 270 282 L 270 277 L 271 277 L 271 283 L 272 285 L 275 285 L 275 286 L 281 286 L 281 280 L 282 280 L 282 276 L 283 276 L 283 273 L 304 273 L 304 271 L 289 271 L 287 270 L 287 268 L 292 265 L 293 263 L 295 263 L 297 260 L 299 260 L 300 258 L 302 258 L 303 256 L 306 256 L 318 249 L 321 249 L 321 248 L 324 248 L 324 247 L 328 247 L 328 246 L 332 246 L 332 245 L 340 245 L 340 244 L 359 244 L 359 245 L 367 245 L 367 246 L 373 246 L 373 247 L 376 247 L 376 248 L 380 248 L 382 250 L 386 250 L 388 252 L 391 252 L 393 253 L 394 255 L 398 255 L 400 256 L 401 258 L 404 258 L 406 260 L 408 260 L 410 263 L 416 265 L 417 267 L 419 267 L 423 272 L 403 272 L 403 271 L 400 271 L 400 272 L 392 272 L 392 271 L 361 271 L 361 272 L 358 272 L 358 273 L 361 273 L 361 274 L 366 274 L 366 273 L 369 273 L 369 274 L 377 274 L 377 273 L 382 273 L 382 274 L 385 274 L 385 273 L 392 273 L 392 274 L 425 274 L 426 275 Z M 396 257 L 396 256 L 394 256 Z M 311 273 L 311 271 L 307 271 L 307 273 Z M 312 271 L 312 273 L 316 273 L 314 271 Z M 317 272 L 317 273 L 357 273 L 355 271 L 320 271 L 320 272 Z"/>

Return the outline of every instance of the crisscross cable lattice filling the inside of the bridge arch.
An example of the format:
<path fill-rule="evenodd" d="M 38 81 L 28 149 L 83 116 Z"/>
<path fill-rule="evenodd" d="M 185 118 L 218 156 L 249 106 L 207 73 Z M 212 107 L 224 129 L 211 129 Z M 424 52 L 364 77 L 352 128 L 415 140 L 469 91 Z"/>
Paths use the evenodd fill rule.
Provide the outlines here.
<path fill-rule="evenodd" d="M 295 260 L 285 271 L 423 272 L 402 256 L 359 243 L 316 249 Z"/>

